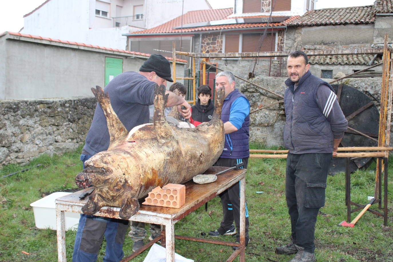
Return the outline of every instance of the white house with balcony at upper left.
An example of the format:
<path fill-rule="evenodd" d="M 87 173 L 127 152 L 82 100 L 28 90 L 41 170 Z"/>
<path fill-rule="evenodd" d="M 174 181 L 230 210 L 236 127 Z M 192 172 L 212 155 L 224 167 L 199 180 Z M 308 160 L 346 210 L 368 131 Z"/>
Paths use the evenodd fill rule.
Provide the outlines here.
<path fill-rule="evenodd" d="M 125 33 L 158 26 L 207 0 L 46 0 L 24 15 L 20 33 L 126 49 Z"/>

